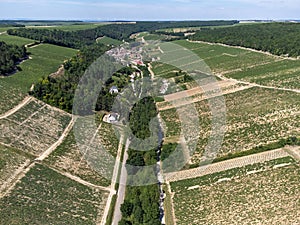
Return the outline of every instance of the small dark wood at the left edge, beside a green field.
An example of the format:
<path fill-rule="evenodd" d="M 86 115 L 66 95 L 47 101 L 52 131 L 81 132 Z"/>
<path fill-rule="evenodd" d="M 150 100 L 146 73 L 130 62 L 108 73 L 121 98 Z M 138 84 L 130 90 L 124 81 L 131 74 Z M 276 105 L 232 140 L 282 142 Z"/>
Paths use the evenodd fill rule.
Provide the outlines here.
<path fill-rule="evenodd" d="M 27 58 L 26 48 L 0 41 L 0 75 L 7 76 L 17 70 L 17 65 Z"/>

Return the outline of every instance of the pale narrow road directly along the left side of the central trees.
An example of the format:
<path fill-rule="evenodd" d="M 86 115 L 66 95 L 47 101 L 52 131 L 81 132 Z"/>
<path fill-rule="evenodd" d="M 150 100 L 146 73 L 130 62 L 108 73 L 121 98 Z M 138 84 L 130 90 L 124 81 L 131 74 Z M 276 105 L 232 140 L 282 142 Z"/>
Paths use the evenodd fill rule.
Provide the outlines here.
<path fill-rule="evenodd" d="M 127 139 L 126 146 L 124 150 L 124 158 L 122 163 L 122 169 L 121 169 L 121 176 L 119 181 L 119 190 L 118 190 L 118 196 L 117 201 L 115 205 L 115 211 L 114 211 L 114 218 L 112 225 L 118 225 L 119 221 L 122 219 L 122 213 L 121 213 L 121 205 L 124 203 L 125 199 L 125 191 L 126 191 L 126 184 L 127 184 L 127 170 L 126 170 L 126 161 L 128 159 L 128 148 L 129 148 L 130 141 Z"/>

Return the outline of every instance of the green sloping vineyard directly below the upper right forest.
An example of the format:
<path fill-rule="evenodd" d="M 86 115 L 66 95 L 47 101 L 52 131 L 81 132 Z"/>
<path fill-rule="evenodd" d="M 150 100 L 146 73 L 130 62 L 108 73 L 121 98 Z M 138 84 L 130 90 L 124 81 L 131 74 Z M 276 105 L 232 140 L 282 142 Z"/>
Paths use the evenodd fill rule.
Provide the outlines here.
<path fill-rule="evenodd" d="M 216 44 L 174 43 L 195 52 L 214 73 L 261 85 L 299 89 L 300 60 Z"/>

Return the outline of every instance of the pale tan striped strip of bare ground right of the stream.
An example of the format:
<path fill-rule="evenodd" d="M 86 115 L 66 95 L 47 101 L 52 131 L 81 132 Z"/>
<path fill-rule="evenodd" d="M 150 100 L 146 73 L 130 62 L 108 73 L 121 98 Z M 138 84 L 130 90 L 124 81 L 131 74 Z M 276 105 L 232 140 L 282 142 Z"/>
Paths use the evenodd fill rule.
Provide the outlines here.
<path fill-rule="evenodd" d="M 225 170 L 240 168 L 251 164 L 263 163 L 266 161 L 284 158 L 291 156 L 286 148 L 276 149 L 272 151 L 262 152 L 254 155 L 244 156 L 240 158 L 230 159 L 210 165 L 200 166 L 195 169 L 184 170 L 174 173 L 167 173 L 164 175 L 167 182 L 175 182 L 180 180 L 187 180 L 197 178 L 208 174 L 218 173 Z"/>

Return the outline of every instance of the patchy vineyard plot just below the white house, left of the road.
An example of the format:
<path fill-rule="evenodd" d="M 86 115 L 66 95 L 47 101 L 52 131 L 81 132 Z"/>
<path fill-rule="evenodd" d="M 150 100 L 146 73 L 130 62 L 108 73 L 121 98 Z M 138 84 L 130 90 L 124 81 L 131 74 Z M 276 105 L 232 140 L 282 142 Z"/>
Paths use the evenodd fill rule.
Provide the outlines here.
<path fill-rule="evenodd" d="M 88 128 L 85 128 L 82 132 L 89 132 Z M 80 140 L 75 138 L 74 132 L 70 132 L 64 142 L 46 159 L 46 162 L 57 169 L 76 175 L 95 185 L 109 186 L 110 180 L 101 176 L 99 172 L 106 168 L 100 168 L 101 163 L 97 166 L 91 165 L 88 160 L 93 152 L 97 153 L 98 151 L 100 155 L 100 142 L 110 154 L 116 156 L 118 139 L 115 137 L 111 125 L 101 123 L 96 137 L 91 134 L 90 140 L 84 142 L 80 143 Z"/>

